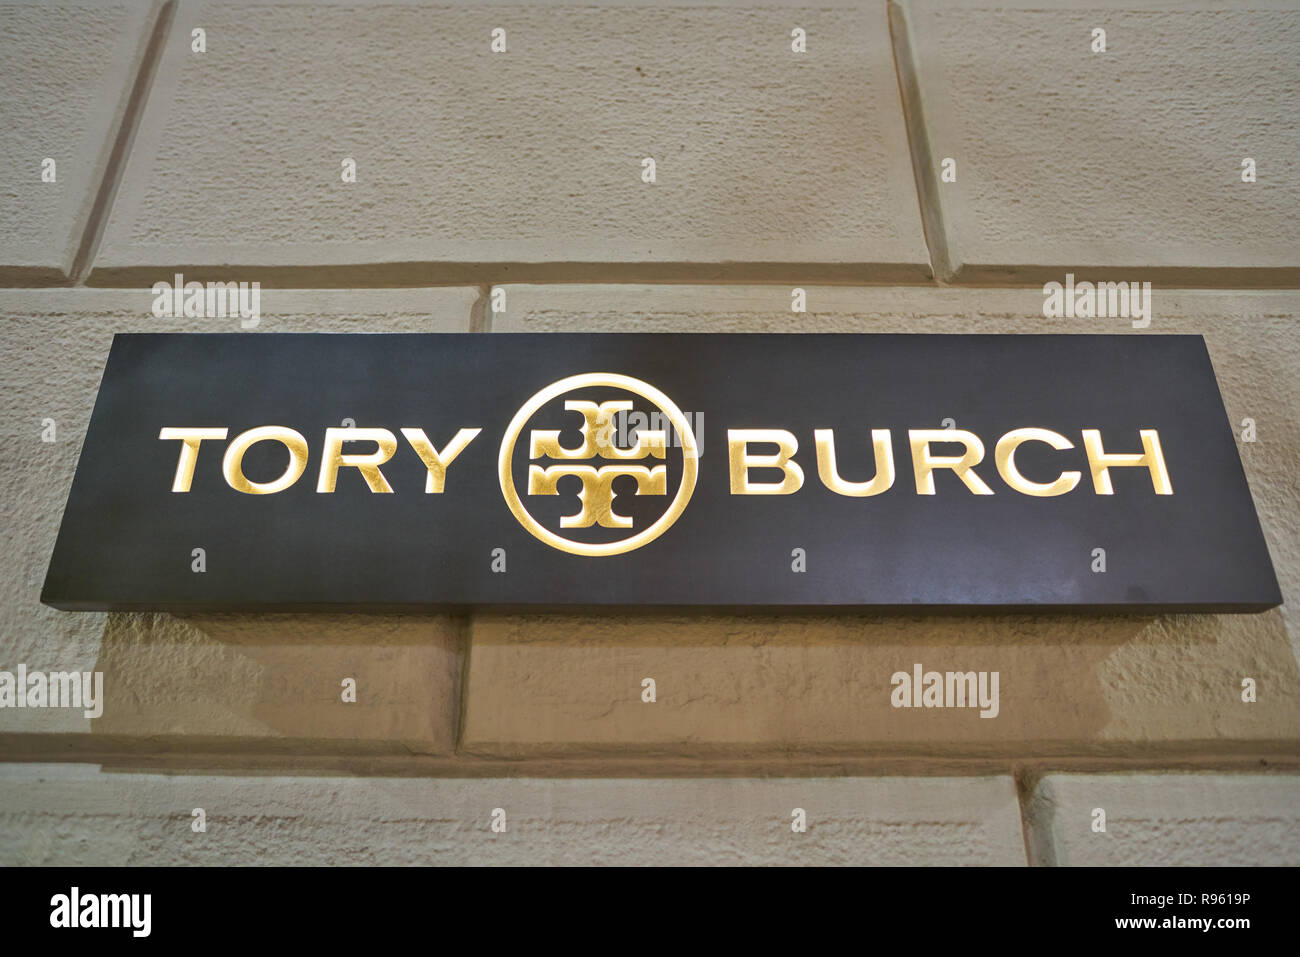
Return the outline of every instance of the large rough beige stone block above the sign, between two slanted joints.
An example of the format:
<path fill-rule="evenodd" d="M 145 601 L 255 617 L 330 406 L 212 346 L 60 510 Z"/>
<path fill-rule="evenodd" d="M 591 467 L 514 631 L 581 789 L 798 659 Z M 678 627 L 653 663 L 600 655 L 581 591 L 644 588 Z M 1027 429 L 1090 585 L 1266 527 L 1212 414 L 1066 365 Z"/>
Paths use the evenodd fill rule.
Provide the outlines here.
<path fill-rule="evenodd" d="M 213 264 L 927 277 L 885 7 L 182 3 L 91 281 Z"/>

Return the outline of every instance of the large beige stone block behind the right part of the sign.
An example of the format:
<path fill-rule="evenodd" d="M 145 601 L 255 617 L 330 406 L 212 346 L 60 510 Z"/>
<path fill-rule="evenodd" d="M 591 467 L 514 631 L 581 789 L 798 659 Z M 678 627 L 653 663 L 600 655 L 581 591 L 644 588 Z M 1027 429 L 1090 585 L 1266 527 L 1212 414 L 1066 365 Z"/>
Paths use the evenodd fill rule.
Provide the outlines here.
<path fill-rule="evenodd" d="M 784 286 L 507 286 L 494 330 L 1084 333 L 1040 290 Z M 1300 592 L 1300 294 L 1160 291 L 1149 333 L 1202 333 L 1284 597 Z M 1300 753 L 1294 612 L 1170 616 L 474 618 L 462 745 L 589 752 L 909 755 Z M 889 677 L 1001 674 L 1001 714 L 896 710 Z M 658 701 L 641 701 L 654 677 Z M 1258 701 L 1243 703 L 1242 677 Z"/>

